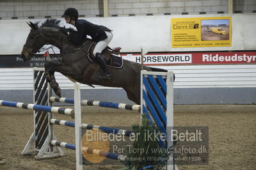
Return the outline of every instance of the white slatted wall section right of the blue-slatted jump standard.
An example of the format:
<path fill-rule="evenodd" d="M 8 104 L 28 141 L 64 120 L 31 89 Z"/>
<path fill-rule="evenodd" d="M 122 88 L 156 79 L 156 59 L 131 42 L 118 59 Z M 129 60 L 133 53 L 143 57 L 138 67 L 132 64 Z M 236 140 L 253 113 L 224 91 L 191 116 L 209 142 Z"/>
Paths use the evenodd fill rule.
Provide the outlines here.
<path fill-rule="evenodd" d="M 175 88 L 256 87 L 256 65 L 158 66 L 175 73 Z"/>

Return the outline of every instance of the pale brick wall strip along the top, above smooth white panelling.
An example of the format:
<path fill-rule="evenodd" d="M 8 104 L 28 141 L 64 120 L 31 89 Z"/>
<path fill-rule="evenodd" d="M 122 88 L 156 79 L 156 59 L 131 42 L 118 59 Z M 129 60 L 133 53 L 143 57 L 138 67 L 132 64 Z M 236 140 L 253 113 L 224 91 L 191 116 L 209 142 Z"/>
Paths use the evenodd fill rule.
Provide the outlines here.
<path fill-rule="evenodd" d="M 73 7 L 81 17 L 101 17 L 102 0 L 1 0 L 1 19 L 42 19 L 63 15 L 63 10 Z M 234 13 L 255 13 L 256 1 L 233 1 Z M 196 15 L 228 13 L 228 0 L 108 0 L 112 17 L 138 15 Z"/>

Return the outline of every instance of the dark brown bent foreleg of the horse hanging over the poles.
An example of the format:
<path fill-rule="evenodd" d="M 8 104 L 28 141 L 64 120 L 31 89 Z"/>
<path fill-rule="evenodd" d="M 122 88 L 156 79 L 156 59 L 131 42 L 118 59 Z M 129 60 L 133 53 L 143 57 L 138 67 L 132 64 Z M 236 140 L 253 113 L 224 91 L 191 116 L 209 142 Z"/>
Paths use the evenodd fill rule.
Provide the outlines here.
<path fill-rule="evenodd" d="M 49 82 L 51 88 L 58 97 L 61 97 L 61 89 L 58 82 L 56 82 L 54 72 L 56 72 L 56 67 L 60 66 L 61 64 L 62 63 L 60 61 L 48 61 L 44 66 L 46 80 Z"/>

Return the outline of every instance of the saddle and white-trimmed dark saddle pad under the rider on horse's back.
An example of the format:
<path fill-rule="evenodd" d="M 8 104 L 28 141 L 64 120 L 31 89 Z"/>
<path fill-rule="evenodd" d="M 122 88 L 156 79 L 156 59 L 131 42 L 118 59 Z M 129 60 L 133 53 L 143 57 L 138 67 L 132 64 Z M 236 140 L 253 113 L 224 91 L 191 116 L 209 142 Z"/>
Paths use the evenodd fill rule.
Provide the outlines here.
<path fill-rule="evenodd" d="M 97 63 L 95 56 L 93 55 L 93 49 L 96 44 L 96 42 L 91 42 L 89 47 L 84 47 L 84 44 L 82 46 L 82 49 L 86 50 L 87 57 L 92 63 Z M 102 56 L 106 60 L 107 66 L 117 69 L 123 67 L 123 58 L 120 55 L 120 49 L 122 48 L 116 47 L 111 49 L 110 47 L 106 47 L 106 49 L 102 51 Z"/>

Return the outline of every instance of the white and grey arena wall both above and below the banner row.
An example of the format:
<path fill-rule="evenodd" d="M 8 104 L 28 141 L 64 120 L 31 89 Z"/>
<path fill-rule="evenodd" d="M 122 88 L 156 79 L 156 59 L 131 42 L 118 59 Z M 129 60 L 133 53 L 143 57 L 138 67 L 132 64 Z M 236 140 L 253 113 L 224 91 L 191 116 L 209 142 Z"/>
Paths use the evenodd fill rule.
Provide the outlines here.
<path fill-rule="evenodd" d="M 185 17 L 232 17 L 231 47 L 172 48 L 170 20 L 175 16 L 141 16 L 86 18 L 114 30 L 111 47 L 122 47 L 122 52 L 140 52 L 141 47 L 150 52 L 220 52 L 255 51 L 255 14 L 189 15 Z M 33 21 L 36 21 L 35 19 Z M 20 54 L 29 33 L 27 20 L 0 20 L 0 58 Z M 176 75 L 175 104 L 253 104 L 256 103 L 256 65 L 160 65 Z M 3 100 L 33 102 L 32 68 L 0 68 L 0 93 Z M 72 82 L 57 73 L 57 81 L 67 97 L 72 96 Z M 93 100 L 127 101 L 125 92 L 117 88 L 82 86 L 82 97 Z M 102 93 L 106 94 L 102 97 Z M 116 98 L 118 97 L 118 98 Z M 27 101 L 24 101 L 27 100 Z"/>

